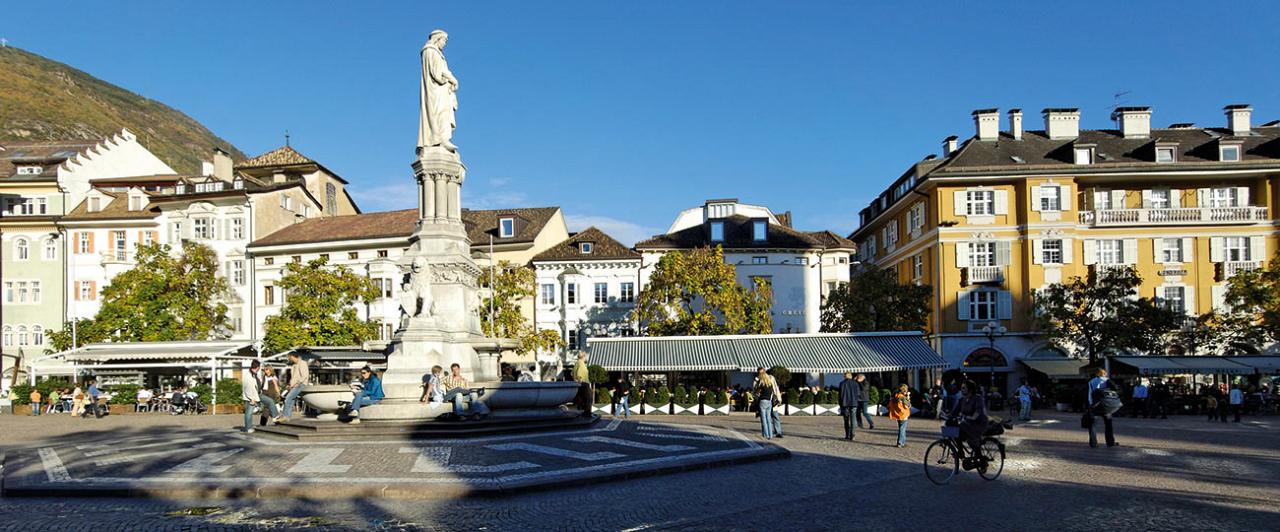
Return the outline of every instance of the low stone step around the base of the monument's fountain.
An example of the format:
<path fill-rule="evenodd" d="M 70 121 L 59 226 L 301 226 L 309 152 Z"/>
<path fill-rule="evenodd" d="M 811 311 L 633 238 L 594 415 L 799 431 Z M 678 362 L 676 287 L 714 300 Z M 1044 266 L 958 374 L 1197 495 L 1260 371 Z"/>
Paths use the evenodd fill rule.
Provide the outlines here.
<path fill-rule="evenodd" d="M 425 440 L 435 437 L 493 436 L 518 432 L 588 428 L 600 417 L 564 416 L 548 419 L 486 418 L 479 421 L 367 421 L 349 425 L 338 421 L 298 419 L 268 427 L 257 434 L 294 441 L 344 441 L 387 437 Z"/>

